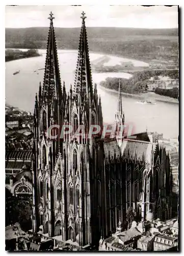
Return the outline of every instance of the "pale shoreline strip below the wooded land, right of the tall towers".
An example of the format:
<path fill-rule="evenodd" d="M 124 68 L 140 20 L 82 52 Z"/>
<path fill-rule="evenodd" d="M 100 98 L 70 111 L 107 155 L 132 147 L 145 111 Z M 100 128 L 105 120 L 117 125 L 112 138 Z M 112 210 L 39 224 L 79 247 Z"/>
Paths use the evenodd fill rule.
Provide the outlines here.
<path fill-rule="evenodd" d="M 113 89 L 108 89 L 104 86 L 99 86 L 102 90 L 105 90 L 107 92 L 112 92 L 118 94 L 118 91 Z M 162 101 L 162 102 L 168 102 L 168 103 L 174 103 L 178 104 L 178 99 L 170 98 L 167 96 L 162 96 L 159 94 L 155 94 L 154 92 L 148 92 L 148 93 L 141 93 L 141 94 L 130 94 L 130 93 L 121 93 L 124 97 L 130 97 L 130 98 L 136 98 L 139 100 L 156 100 L 156 101 Z"/>

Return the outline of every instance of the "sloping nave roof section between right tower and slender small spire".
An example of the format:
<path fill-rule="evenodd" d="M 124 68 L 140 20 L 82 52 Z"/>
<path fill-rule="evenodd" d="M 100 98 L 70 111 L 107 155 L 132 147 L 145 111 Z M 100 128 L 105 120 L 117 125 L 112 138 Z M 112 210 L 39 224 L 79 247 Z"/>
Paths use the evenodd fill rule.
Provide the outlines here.
<path fill-rule="evenodd" d="M 106 158 L 114 158 L 114 154 L 116 153 L 116 158 L 120 155 L 119 146 L 117 144 L 117 140 L 106 140 L 104 142 L 104 154 Z"/>

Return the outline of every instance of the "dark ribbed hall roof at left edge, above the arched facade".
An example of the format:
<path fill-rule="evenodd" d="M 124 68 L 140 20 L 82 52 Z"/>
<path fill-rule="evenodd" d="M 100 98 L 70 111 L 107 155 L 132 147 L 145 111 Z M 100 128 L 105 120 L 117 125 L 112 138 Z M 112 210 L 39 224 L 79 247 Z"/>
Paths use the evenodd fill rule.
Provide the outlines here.
<path fill-rule="evenodd" d="M 31 150 L 13 150 L 6 151 L 5 158 L 7 159 L 20 159 L 20 160 L 32 160 Z"/>

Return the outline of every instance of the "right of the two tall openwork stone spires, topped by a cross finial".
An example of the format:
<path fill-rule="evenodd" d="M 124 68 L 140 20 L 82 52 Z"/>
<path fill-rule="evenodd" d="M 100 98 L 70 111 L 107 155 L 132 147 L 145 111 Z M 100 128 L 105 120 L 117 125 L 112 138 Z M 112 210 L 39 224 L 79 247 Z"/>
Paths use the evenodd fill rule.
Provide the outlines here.
<path fill-rule="evenodd" d="M 78 101 L 78 97 L 81 97 L 81 102 L 84 102 L 85 98 L 89 98 L 90 101 L 92 101 L 93 86 L 91 78 L 87 32 L 85 26 L 86 16 L 84 12 L 82 12 L 81 18 L 82 28 L 80 35 L 80 43 L 78 46 L 78 58 L 75 72 L 74 98 L 76 101 Z"/>

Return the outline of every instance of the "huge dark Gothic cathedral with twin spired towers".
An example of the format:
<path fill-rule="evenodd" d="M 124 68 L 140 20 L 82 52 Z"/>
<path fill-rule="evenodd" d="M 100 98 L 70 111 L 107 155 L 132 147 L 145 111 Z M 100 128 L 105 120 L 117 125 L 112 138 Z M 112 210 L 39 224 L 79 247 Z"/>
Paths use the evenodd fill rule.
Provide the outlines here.
<path fill-rule="evenodd" d="M 61 83 L 53 14 L 47 39 L 43 84 L 39 86 L 34 111 L 33 232 L 50 238 L 95 245 L 132 206 L 145 220 L 171 217 L 171 169 L 166 150 L 151 143 L 146 133 L 137 139 L 120 139 L 124 113 L 119 82 L 114 138 L 73 135 L 79 125 L 103 125 L 101 99 L 92 83 L 85 13 L 78 45 L 73 86 L 67 93 Z M 51 125 L 71 125 L 63 138 L 50 139 Z"/>

